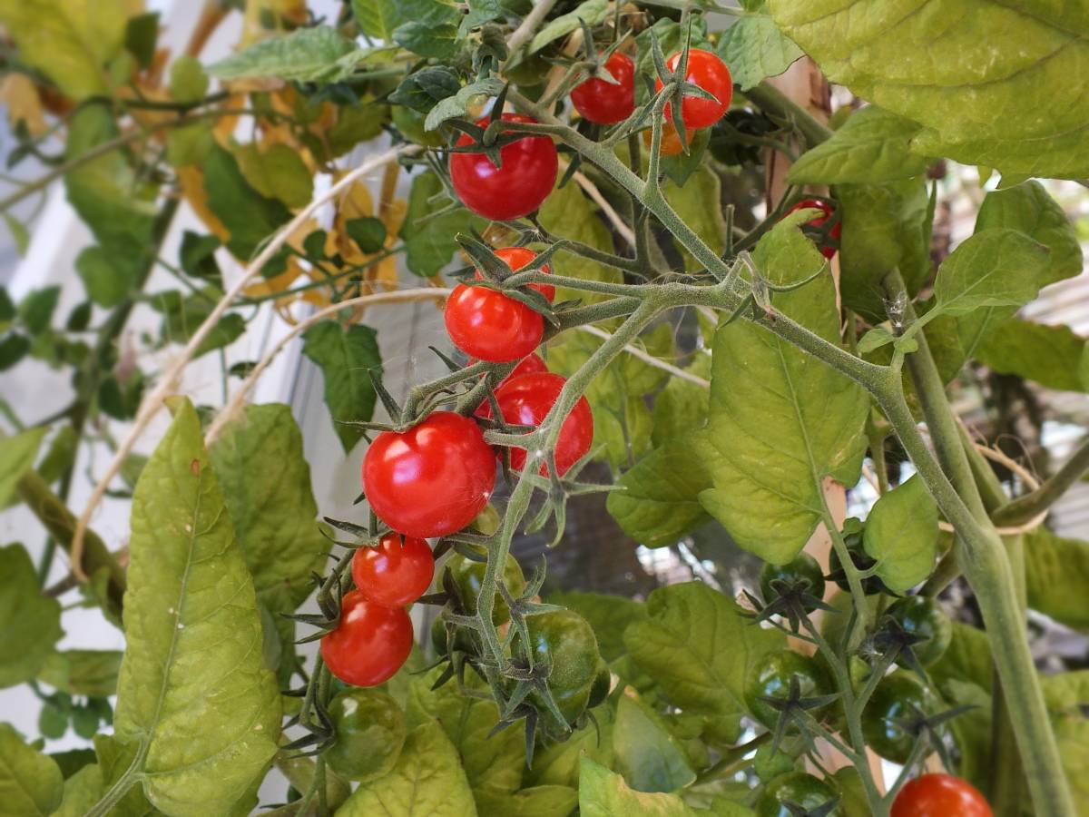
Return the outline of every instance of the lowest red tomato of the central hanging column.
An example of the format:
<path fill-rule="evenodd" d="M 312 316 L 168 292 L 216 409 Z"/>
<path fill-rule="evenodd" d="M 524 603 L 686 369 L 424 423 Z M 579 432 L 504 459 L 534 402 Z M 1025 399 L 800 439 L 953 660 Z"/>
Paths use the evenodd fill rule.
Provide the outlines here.
<path fill-rule="evenodd" d="M 389 681 L 412 650 L 412 619 L 402 607 L 368 601 L 359 590 L 344 595 L 337 629 L 321 639 L 329 671 L 353 686 Z"/>

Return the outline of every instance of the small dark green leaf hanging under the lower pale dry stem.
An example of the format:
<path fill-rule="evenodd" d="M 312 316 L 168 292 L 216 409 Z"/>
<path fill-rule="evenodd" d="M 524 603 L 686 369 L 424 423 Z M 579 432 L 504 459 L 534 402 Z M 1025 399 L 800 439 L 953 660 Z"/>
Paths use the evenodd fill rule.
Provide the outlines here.
<path fill-rule="evenodd" d="M 303 333 L 303 354 L 321 369 L 326 405 L 344 452 L 352 450 L 363 429 L 347 425 L 367 422 L 375 413 L 375 387 L 370 374 L 382 374 L 377 332 L 355 324 L 342 327 L 335 320 L 315 324 Z"/>

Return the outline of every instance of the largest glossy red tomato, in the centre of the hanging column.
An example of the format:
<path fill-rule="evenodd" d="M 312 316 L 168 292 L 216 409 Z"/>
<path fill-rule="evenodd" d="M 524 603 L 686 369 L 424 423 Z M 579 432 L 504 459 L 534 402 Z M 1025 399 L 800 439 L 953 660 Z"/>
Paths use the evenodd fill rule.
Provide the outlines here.
<path fill-rule="evenodd" d="M 432 412 L 407 431 L 382 431 L 363 458 L 370 508 L 405 536 L 445 536 L 469 524 L 495 486 L 495 459 L 476 422 Z"/>

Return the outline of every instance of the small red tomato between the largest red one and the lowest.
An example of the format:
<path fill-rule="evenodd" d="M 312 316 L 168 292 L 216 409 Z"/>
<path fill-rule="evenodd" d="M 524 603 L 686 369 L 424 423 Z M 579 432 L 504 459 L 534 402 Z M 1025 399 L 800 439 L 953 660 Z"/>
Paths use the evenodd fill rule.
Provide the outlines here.
<path fill-rule="evenodd" d="M 352 578 L 369 601 L 382 607 L 411 605 L 431 586 L 435 557 L 424 539 L 387 534 L 375 547 L 352 557 Z"/>

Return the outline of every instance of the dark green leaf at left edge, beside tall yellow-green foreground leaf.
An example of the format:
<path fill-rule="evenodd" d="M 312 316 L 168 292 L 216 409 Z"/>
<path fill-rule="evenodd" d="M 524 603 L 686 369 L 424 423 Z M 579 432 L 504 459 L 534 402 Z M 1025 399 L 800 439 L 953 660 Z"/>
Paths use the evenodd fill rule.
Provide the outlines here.
<path fill-rule="evenodd" d="M 61 606 L 41 595 L 37 571 L 23 546 L 0 548 L 0 631 L 4 633 L 0 639 L 0 688 L 38 674 L 63 635 L 60 622 Z"/>

